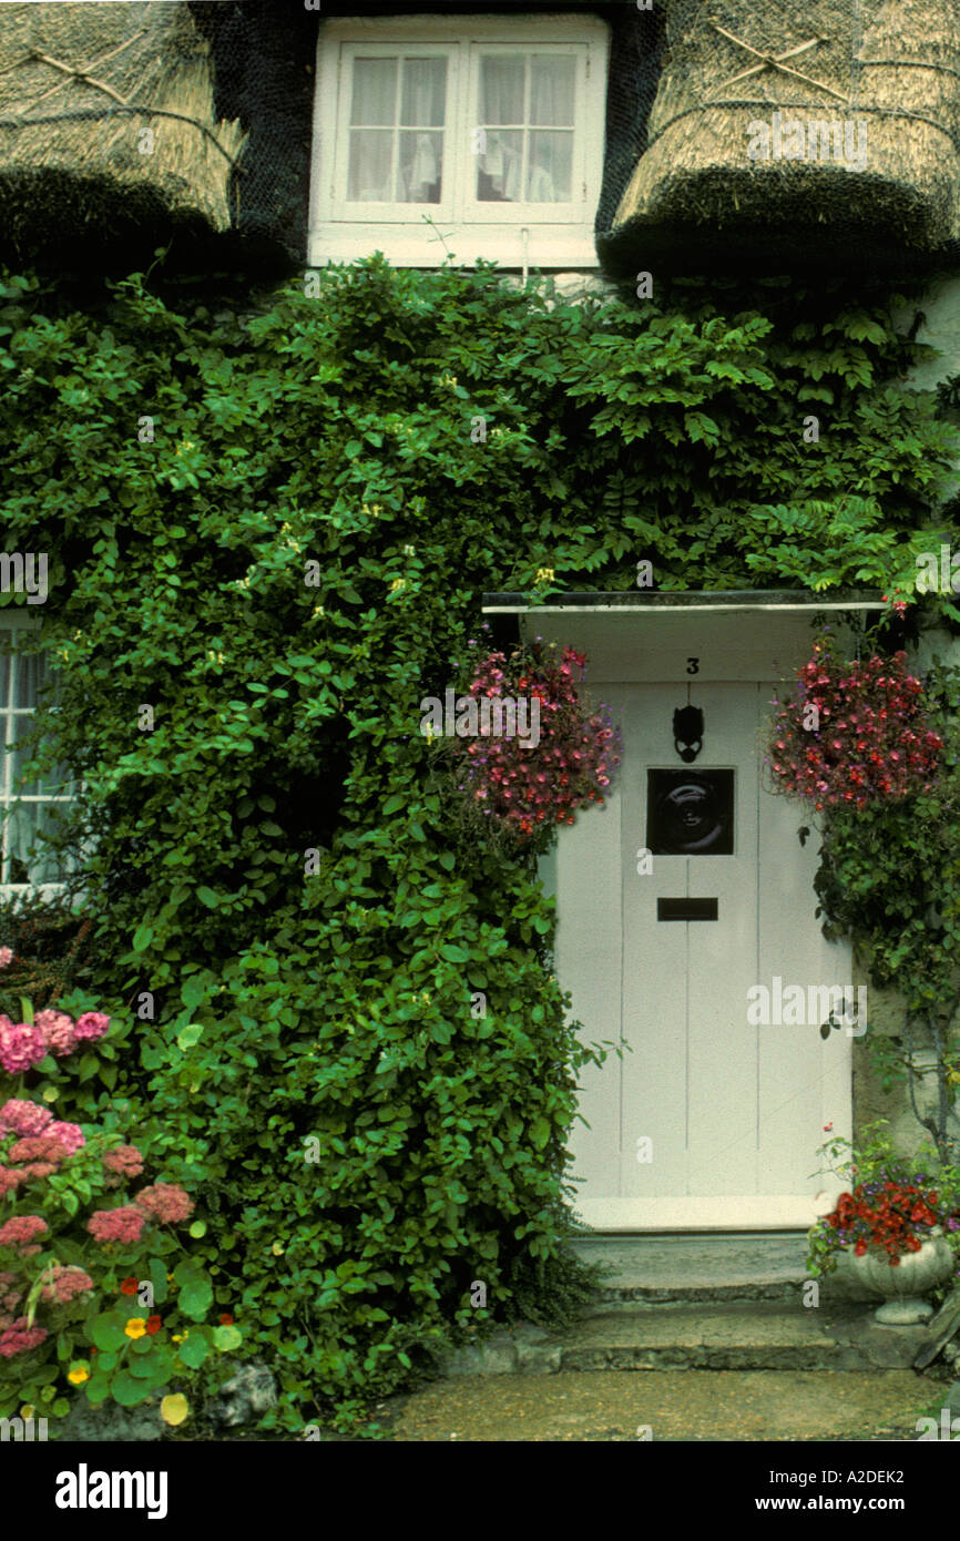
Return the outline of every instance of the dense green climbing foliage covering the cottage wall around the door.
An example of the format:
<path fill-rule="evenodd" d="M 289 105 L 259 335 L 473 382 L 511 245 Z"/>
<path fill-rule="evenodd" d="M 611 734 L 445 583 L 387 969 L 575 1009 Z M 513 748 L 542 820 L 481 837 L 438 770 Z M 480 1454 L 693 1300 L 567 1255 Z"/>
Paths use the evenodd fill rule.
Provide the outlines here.
<path fill-rule="evenodd" d="M 129 1051 L 76 1113 L 129 1097 L 202 1193 L 296 1427 L 475 1324 L 475 1281 L 493 1316 L 561 1288 L 552 903 L 458 834 L 418 732 L 481 593 L 641 558 L 888 592 L 951 442 L 861 284 L 573 305 L 373 259 L 197 290 L 3 277 L 3 515 L 51 553 L 40 729 L 85 780 L 85 983 Z"/>

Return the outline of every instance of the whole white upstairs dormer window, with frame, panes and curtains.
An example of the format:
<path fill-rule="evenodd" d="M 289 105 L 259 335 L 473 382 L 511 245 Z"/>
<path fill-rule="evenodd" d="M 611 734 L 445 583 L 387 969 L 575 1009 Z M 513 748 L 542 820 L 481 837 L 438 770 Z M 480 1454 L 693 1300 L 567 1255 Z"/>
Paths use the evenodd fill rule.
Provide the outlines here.
<path fill-rule="evenodd" d="M 596 267 L 606 65 L 590 15 L 327 22 L 311 265 Z"/>

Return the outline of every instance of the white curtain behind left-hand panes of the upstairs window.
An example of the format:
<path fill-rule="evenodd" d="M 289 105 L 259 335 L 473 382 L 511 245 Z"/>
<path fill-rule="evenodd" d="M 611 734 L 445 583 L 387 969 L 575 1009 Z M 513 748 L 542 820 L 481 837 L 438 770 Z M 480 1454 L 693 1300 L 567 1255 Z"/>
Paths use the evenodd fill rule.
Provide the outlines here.
<path fill-rule="evenodd" d="M 445 111 L 445 59 L 354 59 L 347 197 L 439 202 Z"/>

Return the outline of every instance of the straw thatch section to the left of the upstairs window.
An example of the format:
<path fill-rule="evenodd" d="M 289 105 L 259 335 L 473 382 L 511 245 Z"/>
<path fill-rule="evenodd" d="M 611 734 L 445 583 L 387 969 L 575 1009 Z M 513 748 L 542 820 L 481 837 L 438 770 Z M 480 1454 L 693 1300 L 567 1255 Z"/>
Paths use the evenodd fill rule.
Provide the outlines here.
<path fill-rule="evenodd" d="M 227 230 L 239 122 L 216 122 L 185 5 L 0 6 L 0 231 L 174 217 Z"/>

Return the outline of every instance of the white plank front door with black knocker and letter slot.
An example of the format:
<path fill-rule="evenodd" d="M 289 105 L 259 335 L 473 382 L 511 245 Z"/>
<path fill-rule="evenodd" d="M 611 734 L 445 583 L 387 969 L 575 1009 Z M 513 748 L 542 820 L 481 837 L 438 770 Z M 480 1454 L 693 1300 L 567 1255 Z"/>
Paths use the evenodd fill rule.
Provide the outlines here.
<path fill-rule="evenodd" d="M 777 687 L 592 687 L 619 710 L 623 769 L 561 835 L 556 962 L 586 1037 L 623 1057 L 582 1077 L 575 1208 L 599 1230 L 811 1225 L 824 1125 L 849 1136 L 858 1026 L 820 1032 L 851 963 L 814 915 L 817 832 L 801 846 L 803 809 L 763 787 Z M 687 695 L 704 734 L 684 764 Z"/>

